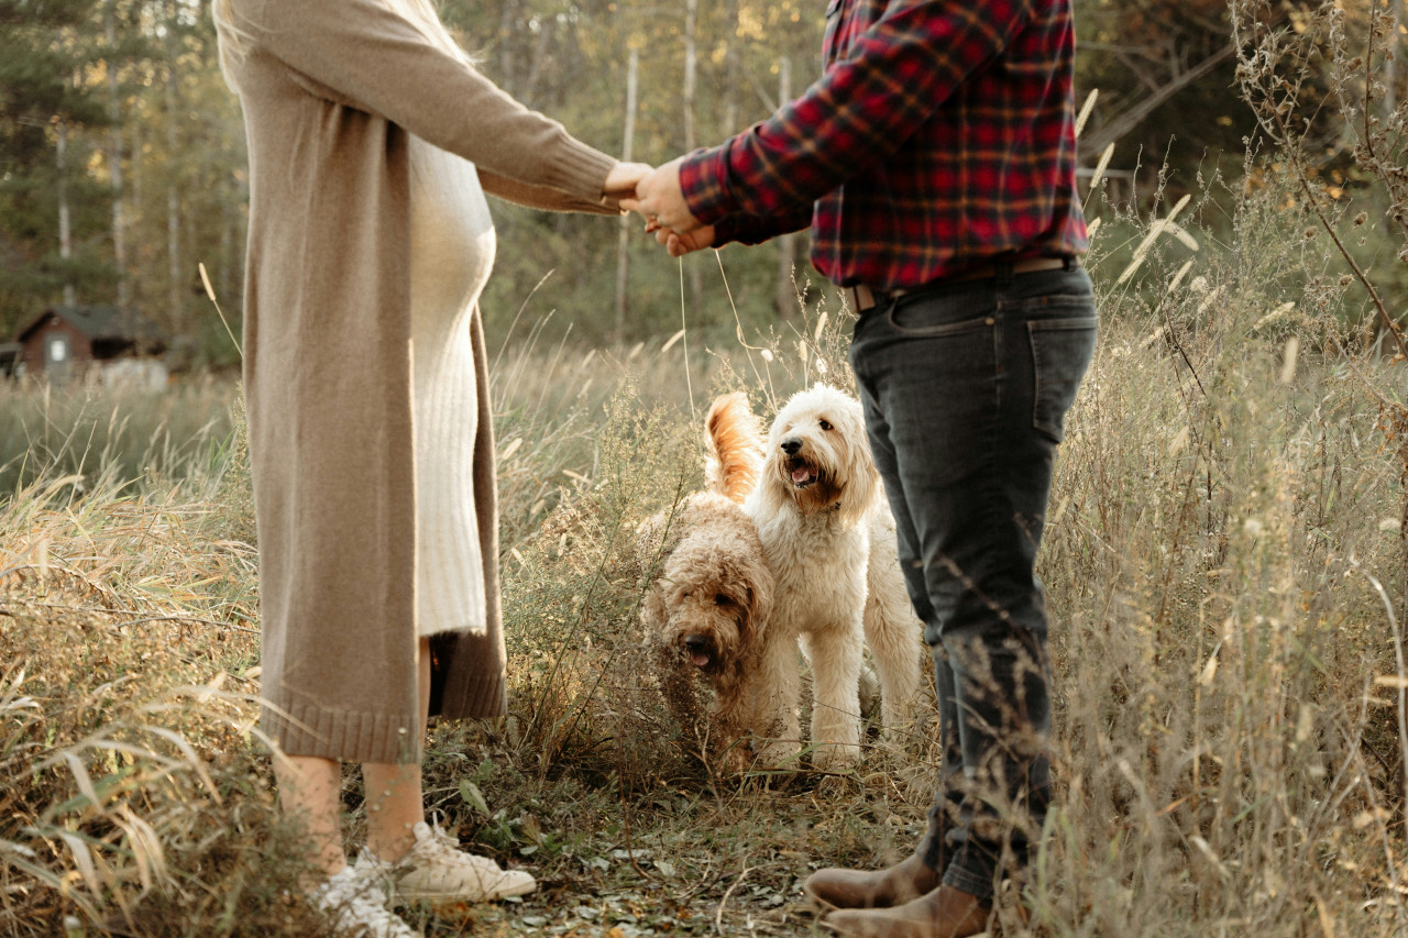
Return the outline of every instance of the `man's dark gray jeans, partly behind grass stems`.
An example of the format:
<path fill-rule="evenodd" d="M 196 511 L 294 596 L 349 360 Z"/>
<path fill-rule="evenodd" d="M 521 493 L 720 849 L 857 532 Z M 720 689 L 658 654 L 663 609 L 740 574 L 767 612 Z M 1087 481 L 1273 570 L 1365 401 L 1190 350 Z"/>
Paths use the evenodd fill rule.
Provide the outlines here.
<path fill-rule="evenodd" d="M 850 362 L 938 679 L 942 775 L 919 855 L 987 899 L 1050 801 L 1052 458 L 1095 348 L 1080 268 L 948 283 L 857 320 Z M 1004 861 L 1004 851 L 1010 856 Z"/>

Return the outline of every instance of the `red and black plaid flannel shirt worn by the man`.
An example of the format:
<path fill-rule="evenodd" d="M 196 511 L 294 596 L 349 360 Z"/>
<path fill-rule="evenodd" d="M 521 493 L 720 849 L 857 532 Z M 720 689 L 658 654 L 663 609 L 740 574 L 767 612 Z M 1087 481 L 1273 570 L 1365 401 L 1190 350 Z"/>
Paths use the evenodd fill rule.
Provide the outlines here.
<path fill-rule="evenodd" d="M 825 73 L 680 169 L 715 244 L 811 224 L 842 286 L 1086 249 L 1070 0 L 831 0 Z"/>

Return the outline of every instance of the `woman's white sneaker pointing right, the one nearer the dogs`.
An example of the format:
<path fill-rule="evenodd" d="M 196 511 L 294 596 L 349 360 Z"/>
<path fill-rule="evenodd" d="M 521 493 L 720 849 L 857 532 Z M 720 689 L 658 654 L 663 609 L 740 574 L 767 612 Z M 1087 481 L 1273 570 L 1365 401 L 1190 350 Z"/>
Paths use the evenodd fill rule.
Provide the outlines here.
<path fill-rule="evenodd" d="M 356 869 L 391 880 L 404 901 L 484 903 L 508 896 L 522 896 L 538 887 L 534 877 L 517 869 L 501 869 L 484 856 L 459 849 L 459 842 L 439 827 L 421 821 L 411 832 L 415 845 L 396 863 L 362 851 Z"/>

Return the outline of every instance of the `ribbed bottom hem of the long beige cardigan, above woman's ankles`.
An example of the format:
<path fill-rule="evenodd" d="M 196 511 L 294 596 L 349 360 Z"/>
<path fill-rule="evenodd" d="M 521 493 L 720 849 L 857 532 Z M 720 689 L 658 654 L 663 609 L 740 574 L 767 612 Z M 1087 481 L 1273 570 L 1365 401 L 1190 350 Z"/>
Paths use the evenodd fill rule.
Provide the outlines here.
<path fill-rule="evenodd" d="M 260 727 L 284 755 L 346 762 L 418 763 L 414 714 L 328 710 L 307 701 L 260 700 Z"/>

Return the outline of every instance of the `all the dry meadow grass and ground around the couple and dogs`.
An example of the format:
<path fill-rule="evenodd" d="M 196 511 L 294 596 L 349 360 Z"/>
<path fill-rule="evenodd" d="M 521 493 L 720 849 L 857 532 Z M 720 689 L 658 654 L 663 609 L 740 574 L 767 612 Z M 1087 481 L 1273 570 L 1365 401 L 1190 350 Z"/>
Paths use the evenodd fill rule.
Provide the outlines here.
<path fill-rule="evenodd" d="M 1041 555 L 1057 793 L 1005 934 L 1404 932 L 1405 466 L 1378 400 L 1401 366 L 1342 325 L 1354 294 L 1284 190 L 1217 196 L 1188 239 L 1169 204 L 1097 231 L 1102 338 Z M 431 731 L 428 801 L 549 887 L 427 934 L 807 932 L 811 868 L 912 844 L 922 738 L 848 777 L 719 775 L 638 652 L 635 524 L 701 484 L 714 393 L 766 414 L 848 384 L 828 303 L 727 342 L 524 335 L 494 363 L 511 714 Z M 190 451 L 218 458 L 135 486 L 117 466 L 145 454 L 82 487 L 56 463 L 0 503 L 0 934 L 317 930 L 253 728 L 239 438 Z M 351 773 L 344 801 L 355 839 Z"/>

